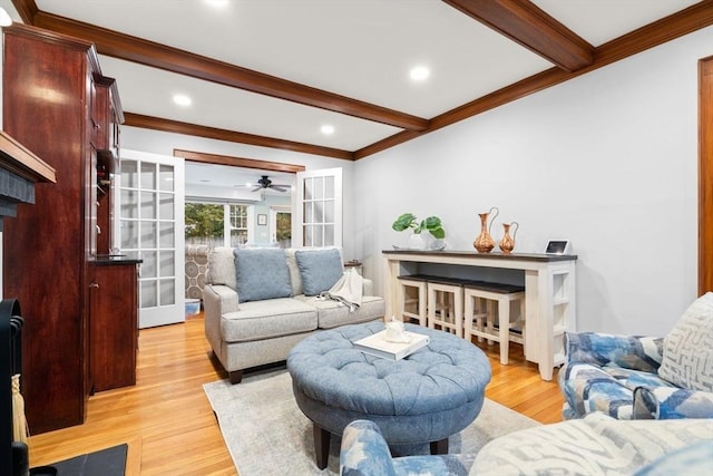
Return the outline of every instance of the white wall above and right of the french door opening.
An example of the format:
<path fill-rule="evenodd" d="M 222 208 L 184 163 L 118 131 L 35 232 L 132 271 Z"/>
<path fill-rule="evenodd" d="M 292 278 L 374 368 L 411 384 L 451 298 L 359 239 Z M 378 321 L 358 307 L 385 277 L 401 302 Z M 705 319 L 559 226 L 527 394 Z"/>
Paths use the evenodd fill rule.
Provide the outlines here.
<path fill-rule="evenodd" d="M 120 85 L 119 85 L 120 94 Z M 173 155 L 174 148 L 195 150 L 208 154 L 222 154 L 233 157 L 245 157 L 260 161 L 280 162 L 285 164 L 304 165 L 307 171 L 342 167 L 343 181 L 343 215 L 344 215 L 344 259 L 359 259 L 354 254 L 353 221 L 355 201 L 353 200 L 354 163 L 290 150 L 270 149 L 223 140 L 213 140 L 180 134 L 169 134 L 136 127 L 121 127 L 121 147 L 154 154 Z"/>

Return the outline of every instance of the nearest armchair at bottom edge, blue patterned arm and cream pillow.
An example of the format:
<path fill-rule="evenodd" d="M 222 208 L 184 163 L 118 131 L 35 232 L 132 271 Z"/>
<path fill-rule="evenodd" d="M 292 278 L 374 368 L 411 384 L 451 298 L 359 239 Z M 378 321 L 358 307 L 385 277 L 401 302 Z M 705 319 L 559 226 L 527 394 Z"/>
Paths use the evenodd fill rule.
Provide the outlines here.
<path fill-rule="evenodd" d="M 713 419 L 623 421 L 602 412 L 490 440 L 471 455 L 391 457 L 379 427 L 344 429 L 342 476 L 710 475 Z"/>

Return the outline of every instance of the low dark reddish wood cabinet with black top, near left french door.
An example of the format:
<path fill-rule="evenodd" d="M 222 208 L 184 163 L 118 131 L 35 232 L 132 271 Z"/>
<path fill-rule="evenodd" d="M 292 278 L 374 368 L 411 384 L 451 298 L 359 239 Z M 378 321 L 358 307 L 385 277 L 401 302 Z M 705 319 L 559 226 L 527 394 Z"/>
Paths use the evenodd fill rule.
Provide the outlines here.
<path fill-rule="evenodd" d="M 89 320 L 94 391 L 136 383 L 138 348 L 137 262 L 96 261 L 91 265 Z"/>

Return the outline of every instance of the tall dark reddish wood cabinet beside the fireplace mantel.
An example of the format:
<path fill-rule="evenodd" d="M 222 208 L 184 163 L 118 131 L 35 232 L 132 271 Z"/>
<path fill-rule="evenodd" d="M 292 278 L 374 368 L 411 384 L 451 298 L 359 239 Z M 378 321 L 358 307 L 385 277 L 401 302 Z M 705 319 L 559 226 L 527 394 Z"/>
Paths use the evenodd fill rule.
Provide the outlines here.
<path fill-rule="evenodd" d="M 38 434 L 85 420 L 89 268 L 98 243 L 108 252 L 108 239 L 98 236 L 111 229 L 96 167 L 111 148 L 101 125 L 120 113 L 92 43 L 20 23 L 2 31 L 3 128 L 57 175 L 56 184 L 38 184 L 35 205 L 19 205 L 2 233 L 3 295 L 22 305 L 22 391 Z"/>

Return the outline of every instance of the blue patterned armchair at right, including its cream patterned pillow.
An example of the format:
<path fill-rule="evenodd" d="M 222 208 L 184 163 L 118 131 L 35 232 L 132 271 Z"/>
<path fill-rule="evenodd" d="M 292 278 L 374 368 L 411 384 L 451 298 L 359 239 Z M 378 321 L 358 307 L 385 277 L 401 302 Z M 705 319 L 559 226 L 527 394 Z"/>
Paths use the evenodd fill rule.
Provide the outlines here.
<path fill-rule="evenodd" d="M 565 336 L 563 417 L 713 418 L 713 293 L 699 298 L 665 338 Z"/>

